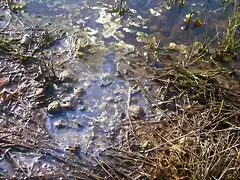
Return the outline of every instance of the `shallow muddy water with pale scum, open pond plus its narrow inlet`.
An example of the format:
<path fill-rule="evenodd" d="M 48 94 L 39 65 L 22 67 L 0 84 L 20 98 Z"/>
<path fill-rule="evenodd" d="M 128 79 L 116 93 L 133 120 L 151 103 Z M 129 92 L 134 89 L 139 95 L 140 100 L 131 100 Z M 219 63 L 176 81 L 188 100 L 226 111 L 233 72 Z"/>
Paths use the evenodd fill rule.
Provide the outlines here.
<path fill-rule="evenodd" d="M 53 53 L 57 75 L 67 70 L 75 79 L 74 83 L 64 84 L 67 90 L 59 86 L 49 90 L 49 103 L 74 99 L 73 108 L 49 113 L 46 118 L 47 131 L 63 151 L 77 145 L 79 154 L 91 156 L 118 141 L 113 134 L 125 120 L 130 84 L 126 78 L 116 76 L 117 59 L 151 43 L 163 49 L 172 42 L 208 43 L 216 31 L 221 36 L 231 10 L 231 5 L 224 10 L 216 1 L 191 0 L 184 5 L 179 2 L 171 5 L 163 0 L 146 0 L 123 3 L 127 11 L 119 16 L 111 13 L 116 5 L 119 7 L 110 0 L 31 0 L 26 12 L 19 14 L 21 22 L 31 27 L 60 28 L 68 32 L 66 38 L 47 50 Z M 193 22 L 184 21 L 190 10 L 192 19 L 199 17 L 203 26 L 194 27 Z M 5 18 L 0 27 L 7 23 L 7 14 Z M 25 31 L 18 22 L 10 28 Z M 83 57 L 76 56 L 77 37 L 73 35 L 76 32 L 91 41 L 90 46 L 80 50 Z M 139 76 L 139 80 L 144 84 L 144 77 Z M 74 92 L 80 88 L 84 93 L 77 97 Z M 143 108 L 146 115 L 150 114 L 144 94 L 136 93 L 132 98 L 132 104 Z M 9 165 L 0 160 L 2 166 Z M 12 174 L 11 170 L 8 174 Z"/>

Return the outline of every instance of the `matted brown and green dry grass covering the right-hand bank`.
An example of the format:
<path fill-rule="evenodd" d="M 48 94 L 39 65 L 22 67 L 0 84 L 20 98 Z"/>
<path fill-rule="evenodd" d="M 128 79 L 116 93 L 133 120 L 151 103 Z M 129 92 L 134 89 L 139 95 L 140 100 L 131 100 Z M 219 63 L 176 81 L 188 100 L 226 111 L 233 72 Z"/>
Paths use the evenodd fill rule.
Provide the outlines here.
<path fill-rule="evenodd" d="M 227 53 L 232 61 L 231 53 L 237 55 L 240 45 L 235 36 L 236 12 L 222 41 L 229 51 L 217 52 Z M 107 168 L 111 178 L 239 179 L 240 84 L 236 76 L 212 54 L 191 57 L 187 64 L 175 58 L 163 63 L 161 70 L 147 68 L 155 91 L 144 89 L 136 80 L 154 100 L 150 105 L 155 116 L 125 124 L 125 138 L 105 153 L 111 160 Z"/>

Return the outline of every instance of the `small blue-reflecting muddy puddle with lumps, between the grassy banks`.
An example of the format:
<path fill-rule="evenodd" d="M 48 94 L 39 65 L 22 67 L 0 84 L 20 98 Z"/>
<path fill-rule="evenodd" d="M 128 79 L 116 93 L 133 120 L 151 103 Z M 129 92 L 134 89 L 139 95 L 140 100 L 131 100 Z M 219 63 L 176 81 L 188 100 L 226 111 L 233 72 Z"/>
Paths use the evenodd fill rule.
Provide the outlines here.
<path fill-rule="evenodd" d="M 100 153 L 109 146 L 108 139 L 115 127 L 123 122 L 121 116 L 126 113 L 128 86 L 124 79 L 115 77 L 117 72 L 113 59 L 110 59 L 112 56 L 107 56 L 99 73 L 81 72 L 82 80 L 75 88 L 83 88 L 85 93 L 73 110 L 48 117 L 50 134 L 64 148 L 79 144 L 83 152 Z M 142 95 L 134 98 L 147 112 L 146 99 Z M 59 123 L 64 125 L 59 128 Z"/>

